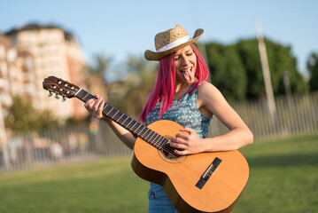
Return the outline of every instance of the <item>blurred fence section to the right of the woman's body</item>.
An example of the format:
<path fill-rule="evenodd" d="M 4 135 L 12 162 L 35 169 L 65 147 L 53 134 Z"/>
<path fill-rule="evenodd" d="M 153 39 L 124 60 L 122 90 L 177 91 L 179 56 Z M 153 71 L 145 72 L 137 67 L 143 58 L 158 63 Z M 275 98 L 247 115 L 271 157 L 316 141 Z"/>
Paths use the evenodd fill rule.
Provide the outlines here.
<path fill-rule="evenodd" d="M 318 131 L 318 93 L 275 99 L 275 114 L 269 114 L 266 100 L 232 105 L 250 127 L 254 138 L 275 138 L 292 134 Z M 227 129 L 213 119 L 213 135 L 221 135 Z"/>

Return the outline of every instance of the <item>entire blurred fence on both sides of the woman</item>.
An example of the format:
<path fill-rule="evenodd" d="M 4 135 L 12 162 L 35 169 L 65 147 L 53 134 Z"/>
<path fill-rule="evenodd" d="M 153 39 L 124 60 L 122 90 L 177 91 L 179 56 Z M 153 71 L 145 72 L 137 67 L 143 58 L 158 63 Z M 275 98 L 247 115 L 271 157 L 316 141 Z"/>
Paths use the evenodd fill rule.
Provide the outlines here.
<path fill-rule="evenodd" d="M 233 104 L 250 127 L 254 138 L 274 138 L 318 131 L 318 93 L 291 99 L 275 99 L 271 117 L 266 101 Z M 227 128 L 215 117 L 210 136 Z M 92 119 L 87 124 L 24 134 L 8 133 L 7 158 L 0 150 L 0 172 L 46 167 L 57 163 L 88 161 L 100 156 L 131 154 L 105 122 Z"/>

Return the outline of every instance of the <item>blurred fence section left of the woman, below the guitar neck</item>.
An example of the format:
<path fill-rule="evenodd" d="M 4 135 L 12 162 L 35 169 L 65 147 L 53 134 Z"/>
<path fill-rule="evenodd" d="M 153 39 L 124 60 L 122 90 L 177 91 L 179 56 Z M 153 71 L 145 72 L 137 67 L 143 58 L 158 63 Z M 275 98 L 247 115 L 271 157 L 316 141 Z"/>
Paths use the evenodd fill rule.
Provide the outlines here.
<path fill-rule="evenodd" d="M 87 124 L 65 128 L 23 134 L 9 132 L 6 156 L 0 150 L 0 172 L 131 153 L 105 122 L 98 122 L 92 119 Z"/>

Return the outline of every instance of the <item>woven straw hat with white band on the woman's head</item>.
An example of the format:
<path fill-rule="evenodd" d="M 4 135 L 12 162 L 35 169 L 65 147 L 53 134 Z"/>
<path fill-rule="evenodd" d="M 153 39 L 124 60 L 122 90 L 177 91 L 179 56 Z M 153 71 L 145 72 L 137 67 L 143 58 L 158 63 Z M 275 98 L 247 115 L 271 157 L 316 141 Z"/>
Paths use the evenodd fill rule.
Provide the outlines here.
<path fill-rule="evenodd" d="M 144 51 L 144 58 L 148 60 L 159 60 L 174 51 L 182 49 L 190 43 L 197 42 L 198 38 L 202 36 L 203 31 L 203 29 L 198 28 L 192 39 L 190 39 L 189 34 L 181 25 L 161 32 L 155 36 L 156 51 Z"/>

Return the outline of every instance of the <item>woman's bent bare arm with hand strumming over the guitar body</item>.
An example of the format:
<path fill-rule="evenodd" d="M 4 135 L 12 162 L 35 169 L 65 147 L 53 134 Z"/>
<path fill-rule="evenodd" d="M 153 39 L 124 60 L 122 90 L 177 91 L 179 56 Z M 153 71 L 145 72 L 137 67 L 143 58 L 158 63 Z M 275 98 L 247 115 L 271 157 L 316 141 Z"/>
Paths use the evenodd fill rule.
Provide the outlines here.
<path fill-rule="evenodd" d="M 176 154 L 230 151 L 252 144 L 251 130 L 213 84 L 202 83 L 200 85 L 198 109 L 204 114 L 214 114 L 229 128 L 229 131 L 213 138 L 199 138 L 194 130 L 184 128 L 182 131 L 188 132 L 189 135 L 177 134 L 172 139 L 171 146 L 183 149 L 183 151 L 175 150 Z"/>

